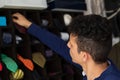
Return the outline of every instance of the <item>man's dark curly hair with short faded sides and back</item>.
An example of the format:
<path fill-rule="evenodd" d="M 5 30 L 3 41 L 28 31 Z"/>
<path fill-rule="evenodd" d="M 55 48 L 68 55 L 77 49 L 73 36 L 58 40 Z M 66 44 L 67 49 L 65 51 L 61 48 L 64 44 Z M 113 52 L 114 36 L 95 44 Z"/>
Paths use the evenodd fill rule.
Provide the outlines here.
<path fill-rule="evenodd" d="M 69 33 L 77 36 L 78 52 L 88 52 L 96 63 L 107 60 L 112 47 L 109 21 L 100 15 L 78 16 L 68 26 Z"/>

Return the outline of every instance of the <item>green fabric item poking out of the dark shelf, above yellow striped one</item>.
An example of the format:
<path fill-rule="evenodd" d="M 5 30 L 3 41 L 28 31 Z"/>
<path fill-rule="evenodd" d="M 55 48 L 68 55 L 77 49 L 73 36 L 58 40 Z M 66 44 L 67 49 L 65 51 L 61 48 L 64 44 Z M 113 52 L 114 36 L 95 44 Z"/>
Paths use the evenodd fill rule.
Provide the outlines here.
<path fill-rule="evenodd" d="M 6 65 L 8 70 L 16 72 L 16 70 L 18 69 L 18 65 L 16 64 L 16 62 L 7 55 L 1 54 L 1 60 Z"/>

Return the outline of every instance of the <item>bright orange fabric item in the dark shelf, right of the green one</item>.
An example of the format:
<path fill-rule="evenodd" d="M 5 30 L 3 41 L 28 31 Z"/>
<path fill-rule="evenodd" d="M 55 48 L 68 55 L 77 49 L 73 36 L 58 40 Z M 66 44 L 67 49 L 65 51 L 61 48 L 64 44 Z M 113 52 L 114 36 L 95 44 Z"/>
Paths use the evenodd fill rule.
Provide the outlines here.
<path fill-rule="evenodd" d="M 17 58 L 31 71 L 34 69 L 34 65 L 30 59 L 24 59 L 22 56 L 17 54 Z"/>

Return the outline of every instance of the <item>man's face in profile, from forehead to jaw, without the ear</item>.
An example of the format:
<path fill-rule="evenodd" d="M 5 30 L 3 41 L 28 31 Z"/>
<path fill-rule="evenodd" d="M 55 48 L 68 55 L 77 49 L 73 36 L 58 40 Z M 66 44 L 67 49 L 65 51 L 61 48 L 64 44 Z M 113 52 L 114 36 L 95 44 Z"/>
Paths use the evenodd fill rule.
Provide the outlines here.
<path fill-rule="evenodd" d="M 70 48 L 70 56 L 72 57 L 72 61 L 75 63 L 80 63 L 80 53 L 78 53 L 78 46 L 76 43 L 76 36 L 70 34 L 70 39 L 67 46 Z"/>

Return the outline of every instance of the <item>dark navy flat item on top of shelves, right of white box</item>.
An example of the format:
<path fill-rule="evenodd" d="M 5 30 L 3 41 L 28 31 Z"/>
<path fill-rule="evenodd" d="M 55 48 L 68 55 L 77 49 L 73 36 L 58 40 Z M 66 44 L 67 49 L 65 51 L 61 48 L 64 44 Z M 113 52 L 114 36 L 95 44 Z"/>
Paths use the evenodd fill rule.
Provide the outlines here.
<path fill-rule="evenodd" d="M 85 0 L 50 0 L 48 5 L 48 9 L 53 11 L 83 12 L 87 10 Z"/>

